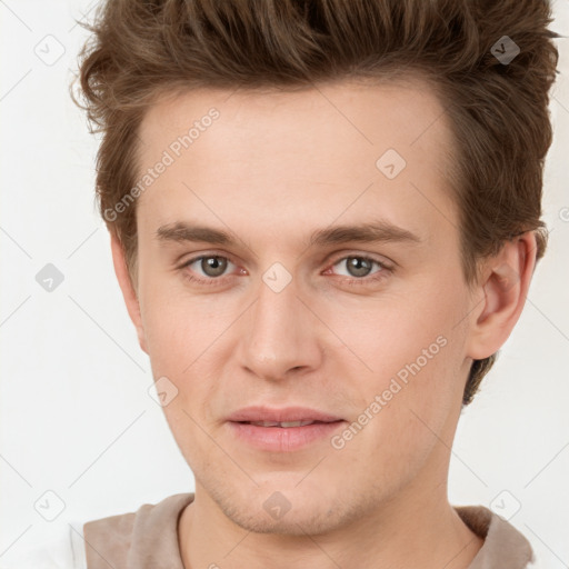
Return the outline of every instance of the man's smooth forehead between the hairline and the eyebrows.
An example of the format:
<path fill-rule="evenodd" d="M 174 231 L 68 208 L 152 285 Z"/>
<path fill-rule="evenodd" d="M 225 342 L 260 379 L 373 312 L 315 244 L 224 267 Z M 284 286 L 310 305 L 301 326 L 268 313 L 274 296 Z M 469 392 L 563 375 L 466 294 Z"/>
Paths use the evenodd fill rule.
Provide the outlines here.
<path fill-rule="evenodd" d="M 192 90 L 153 104 L 139 136 L 141 176 L 168 162 L 139 198 L 154 226 L 192 211 L 218 226 L 252 216 L 330 223 L 379 204 L 395 223 L 406 208 L 432 223 L 453 217 L 442 176 L 450 129 L 419 80 Z"/>

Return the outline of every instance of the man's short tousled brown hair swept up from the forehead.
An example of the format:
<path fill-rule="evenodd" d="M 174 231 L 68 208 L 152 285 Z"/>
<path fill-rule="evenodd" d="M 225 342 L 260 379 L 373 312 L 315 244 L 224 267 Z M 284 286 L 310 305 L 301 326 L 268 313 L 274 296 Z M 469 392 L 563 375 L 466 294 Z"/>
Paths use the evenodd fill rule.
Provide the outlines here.
<path fill-rule="evenodd" d="M 310 88 L 349 78 L 427 77 L 456 139 L 449 171 L 466 281 L 505 241 L 535 231 L 552 139 L 549 88 L 558 51 L 546 0 L 107 0 L 80 57 L 91 132 L 103 132 L 97 196 L 132 270 L 136 202 L 106 211 L 137 176 L 138 129 L 162 93 L 193 88 Z M 507 37 L 507 38 L 505 38 Z M 519 49 L 511 60 L 500 53 Z M 130 272 L 132 278 L 132 272 Z M 475 360 L 468 405 L 497 355 Z"/>

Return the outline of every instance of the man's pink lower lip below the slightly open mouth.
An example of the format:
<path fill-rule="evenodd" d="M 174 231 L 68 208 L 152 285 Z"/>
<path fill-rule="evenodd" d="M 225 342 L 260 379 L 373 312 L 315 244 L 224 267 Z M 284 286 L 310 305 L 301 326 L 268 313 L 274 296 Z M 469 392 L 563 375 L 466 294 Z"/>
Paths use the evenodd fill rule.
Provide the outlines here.
<path fill-rule="evenodd" d="M 259 427 L 246 422 L 229 421 L 232 432 L 244 442 L 260 450 L 290 452 L 330 437 L 346 421 L 315 422 L 303 427 Z"/>

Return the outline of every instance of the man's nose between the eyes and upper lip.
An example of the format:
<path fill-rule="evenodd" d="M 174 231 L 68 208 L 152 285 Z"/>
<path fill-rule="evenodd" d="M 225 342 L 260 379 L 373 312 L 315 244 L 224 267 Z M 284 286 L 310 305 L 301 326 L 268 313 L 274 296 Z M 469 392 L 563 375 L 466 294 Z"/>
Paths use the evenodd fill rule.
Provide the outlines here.
<path fill-rule="evenodd" d="M 269 279 L 259 282 L 257 300 L 239 319 L 238 330 L 240 365 L 272 381 L 318 369 L 326 330 L 308 308 L 309 302 L 299 296 L 295 278 L 279 288 Z"/>

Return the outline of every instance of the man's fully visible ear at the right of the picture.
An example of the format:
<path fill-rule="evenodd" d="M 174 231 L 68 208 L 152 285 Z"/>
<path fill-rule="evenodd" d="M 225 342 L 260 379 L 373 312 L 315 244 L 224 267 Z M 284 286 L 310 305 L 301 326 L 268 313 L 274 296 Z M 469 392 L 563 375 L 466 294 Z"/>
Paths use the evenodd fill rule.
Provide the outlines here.
<path fill-rule="evenodd" d="M 496 257 L 485 262 L 477 297 L 482 298 L 475 310 L 467 355 L 476 360 L 496 353 L 518 321 L 533 270 L 537 243 L 533 231 L 507 241 Z"/>

